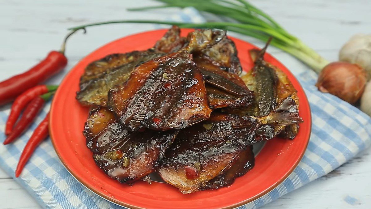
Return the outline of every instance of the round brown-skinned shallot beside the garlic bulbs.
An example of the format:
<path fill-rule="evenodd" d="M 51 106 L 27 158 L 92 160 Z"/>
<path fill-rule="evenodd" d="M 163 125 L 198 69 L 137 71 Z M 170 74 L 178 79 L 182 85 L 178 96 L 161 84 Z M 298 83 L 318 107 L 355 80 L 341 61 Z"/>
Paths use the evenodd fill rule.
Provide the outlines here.
<path fill-rule="evenodd" d="M 361 97 L 367 74 L 357 64 L 347 62 L 332 62 L 322 69 L 316 86 L 318 90 L 330 93 L 354 104 Z"/>

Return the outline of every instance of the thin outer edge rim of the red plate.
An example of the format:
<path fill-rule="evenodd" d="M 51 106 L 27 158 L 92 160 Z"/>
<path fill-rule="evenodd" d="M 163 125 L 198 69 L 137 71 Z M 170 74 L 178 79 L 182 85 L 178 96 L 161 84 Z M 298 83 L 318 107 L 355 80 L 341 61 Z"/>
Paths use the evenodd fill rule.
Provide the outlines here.
<path fill-rule="evenodd" d="M 192 29 L 194 30 L 194 28 L 182 28 L 182 29 Z M 155 30 L 147 30 L 147 31 L 144 31 L 144 32 L 138 32 L 138 33 L 134 33 L 134 34 L 131 34 L 131 35 L 128 35 L 128 36 L 123 36 L 123 37 L 120 37 L 118 39 L 115 39 L 115 40 L 112 40 L 111 42 L 108 42 L 108 43 L 105 43 L 104 45 L 102 46 L 99 46 L 98 48 L 96 48 L 95 50 L 92 50 L 92 52 L 88 53 L 86 56 L 84 56 L 82 59 L 80 59 L 71 69 L 70 71 L 64 76 L 64 78 L 62 79 L 62 81 L 60 82 L 60 86 L 66 82 L 66 78 L 69 77 L 72 72 L 73 72 L 73 69 L 76 67 L 76 65 L 78 65 L 83 59 L 85 59 L 87 56 L 89 56 L 91 53 L 93 52 L 96 52 L 97 50 L 101 49 L 102 47 L 108 45 L 109 43 L 112 43 L 112 42 L 116 42 L 118 40 L 121 40 L 123 38 L 126 38 L 126 37 L 131 37 L 131 36 L 136 36 L 138 34 L 142 34 L 142 33 L 151 33 L 151 32 L 156 32 L 156 31 L 164 31 L 166 32 L 168 29 L 155 29 Z M 233 37 L 233 36 L 229 36 L 229 37 Z M 236 37 L 233 37 L 233 39 L 235 40 L 239 40 L 240 42 L 246 42 L 246 43 L 249 43 L 250 45 L 253 45 L 255 46 L 255 48 L 259 48 L 257 47 L 256 45 L 250 43 L 250 42 L 247 42 L 247 41 L 244 41 L 242 39 L 239 39 L 239 38 L 236 38 Z M 260 48 L 259 48 L 260 49 Z M 269 54 L 270 56 L 272 56 L 272 58 L 274 58 L 276 61 L 278 61 L 279 63 L 281 63 L 283 65 L 282 62 L 280 62 L 278 59 L 276 59 L 273 55 L 271 55 L 270 53 L 267 53 Z M 286 66 L 285 66 L 286 68 Z M 288 69 L 288 68 L 286 68 Z M 312 111 L 311 111 L 311 106 L 309 104 L 309 100 L 308 100 L 308 96 L 306 95 L 301 83 L 298 81 L 298 79 L 296 79 L 296 76 L 292 74 L 292 72 L 288 69 L 289 73 L 292 75 L 293 79 L 295 79 L 295 81 L 297 82 L 297 84 L 300 86 L 300 88 L 302 89 L 303 91 L 303 95 L 304 95 L 304 98 L 305 101 L 308 103 L 308 109 L 309 109 L 309 123 L 308 123 L 308 126 L 309 126 L 309 135 L 308 135 L 308 138 L 306 138 L 306 143 L 305 143 L 305 146 L 303 146 L 303 151 L 301 153 L 301 155 L 297 158 L 297 160 L 295 161 L 295 164 L 292 166 L 292 168 L 290 170 L 288 170 L 288 172 L 285 174 L 285 176 L 283 176 L 279 181 L 277 181 L 276 183 L 274 183 L 272 186 L 268 187 L 266 190 L 263 190 L 262 192 L 260 192 L 258 195 L 250 198 L 250 199 L 246 199 L 246 200 L 243 200 L 242 202 L 238 202 L 238 203 L 235 203 L 233 205 L 230 205 L 230 206 L 227 206 L 225 208 L 237 208 L 237 207 L 240 207 L 240 206 L 243 206 L 243 205 L 246 205 L 248 203 L 251 203 L 257 199 L 259 199 L 260 197 L 263 197 L 265 195 L 267 195 L 269 192 L 271 192 L 272 190 L 276 189 L 282 182 L 284 182 L 286 179 L 288 179 L 288 177 L 290 176 L 290 174 L 293 173 L 293 171 L 296 169 L 296 167 L 298 167 L 299 163 L 301 162 L 304 154 L 305 154 L 305 151 L 306 149 L 308 148 L 308 144 L 309 144 L 309 141 L 310 141 L 310 138 L 311 138 L 311 135 L 312 135 Z M 287 74 L 285 72 L 285 74 Z M 59 88 L 57 89 L 56 93 L 55 93 L 55 96 L 58 95 L 59 93 Z M 53 115 L 53 107 L 55 106 L 54 105 L 54 102 L 55 100 L 53 99 L 52 101 L 52 104 L 50 105 L 50 116 L 49 118 L 52 117 Z M 52 130 L 52 127 L 51 127 L 52 123 L 49 123 L 49 130 Z M 56 145 L 55 145 L 55 140 L 54 140 L 54 137 L 53 137 L 53 131 L 49 131 L 49 135 L 50 135 L 50 139 L 51 139 L 51 142 L 52 142 L 52 145 L 53 145 L 53 148 L 59 158 L 59 160 L 62 162 L 63 166 L 66 168 L 66 170 L 73 176 L 74 179 L 76 179 L 80 184 L 82 184 L 86 189 L 90 190 L 91 192 L 95 193 L 96 195 L 98 195 L 99 197 L 111 202 L 111 203 L 114 203 L 115 205 L 118 205 L 118 206 L 123 206 L 123 207 L 129 207 L 129 208 L 135 208 L 135 209 L 145 209 L 145 208 L 141 208 L 141 207 L 138 207 L 138 206 L 134 206 L 134 205 L 130 205 L 128 203 L 124 203 L 124 202 L 119 202 L 119 201 L 116 201 L 115 199 L 112 199 L 111 197 L 108 197 L 106 196 L 105 194 L 102 194 L 101 192 L 93 189 L 91 186 L 89 185 L 85 185 L 85 183 L 83 183 L 83 181 L 77 177 L 73 172 L 72 170 L 69 168 L 69 166 L 66 164 L 66 162 L 62 159 L 62 157 L 60 156 L 60 153 L 59 151 L 57 150 L 56 148 Z"/>

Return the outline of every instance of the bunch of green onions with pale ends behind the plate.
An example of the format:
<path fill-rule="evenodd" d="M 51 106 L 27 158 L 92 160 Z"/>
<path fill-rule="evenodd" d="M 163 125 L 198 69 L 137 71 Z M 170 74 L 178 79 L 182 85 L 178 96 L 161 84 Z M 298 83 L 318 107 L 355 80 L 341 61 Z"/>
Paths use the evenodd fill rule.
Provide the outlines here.
<path fill-rule="evenodd" d="M 257 9 L 245 0 L 159 0 L 165 5 L 141 7 L 129 9 L 141 11 L 148 9 L 159 9 L 168 7 L 194 7 L 200 12 L 212 13 L 217 16 L 224 16 L 236 22 L 207 22 L 207 23 L 181 23 L 155 20 L 118 20 L 100 23 L 92 23 L 69 30 L 78 30 L 89 26 L 105 25 L 111 23 L 157 23 L 165 25 L 177 25 L 182 28 L 216 28 L 229 30 L 243 35 L 251 36 L 266 42 L 273 37 L 271 44 L 296 57 L 315 72 L 321 72 L 322 68 L 329 62 L 322 58 L 313 49 L 305 45 L 297 37 L 288 33 L 282 26 L 263 11 Z"/>

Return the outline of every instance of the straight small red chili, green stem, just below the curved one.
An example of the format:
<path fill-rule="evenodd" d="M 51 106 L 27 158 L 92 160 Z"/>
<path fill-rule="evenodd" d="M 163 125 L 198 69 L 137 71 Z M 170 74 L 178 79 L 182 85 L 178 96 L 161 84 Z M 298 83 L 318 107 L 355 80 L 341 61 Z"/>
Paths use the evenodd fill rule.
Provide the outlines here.
<path fill-rule="evenodd" d="M 9 136 L 4 140 L 3 144 L 9 144 L 16 140 L 16 138 L 19 137 L 23 131 L 25 131 L 32 124 L 33 120 L 36 118 L 36 115 L 43 108 L 45 102 L 48 101 L 54 93 L 55 92 L 49 92 L 32 99 L 24 110 L 22 117 L 15 125 L 12 133 L 10 133 Z"/>

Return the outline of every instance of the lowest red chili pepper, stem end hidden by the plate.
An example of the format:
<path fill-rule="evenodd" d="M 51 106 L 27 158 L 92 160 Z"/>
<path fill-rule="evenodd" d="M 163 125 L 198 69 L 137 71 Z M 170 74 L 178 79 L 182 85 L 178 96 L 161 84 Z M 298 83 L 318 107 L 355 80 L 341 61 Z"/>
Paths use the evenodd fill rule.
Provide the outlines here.
<path fill-rule="evenodd" d="M 24 147 L 22 154 L 19 158 L 19 162 L 16 169 L 16 177 L 21 174 L 24 166 L 27 161 L 32 156 L 32 153 L 35 151 L 36 147 L 49 135 L 49 113 L 46 115 L 44 120 L 37 126 L 35 131 L 33 131 L 32 136 L 27 141 L 26 146 Z"/>

